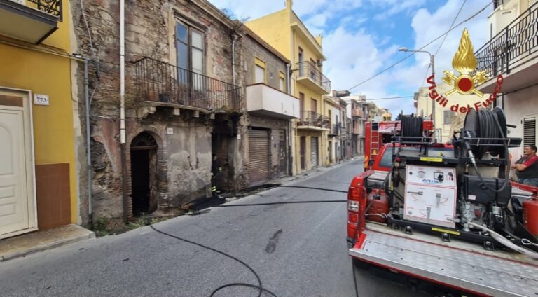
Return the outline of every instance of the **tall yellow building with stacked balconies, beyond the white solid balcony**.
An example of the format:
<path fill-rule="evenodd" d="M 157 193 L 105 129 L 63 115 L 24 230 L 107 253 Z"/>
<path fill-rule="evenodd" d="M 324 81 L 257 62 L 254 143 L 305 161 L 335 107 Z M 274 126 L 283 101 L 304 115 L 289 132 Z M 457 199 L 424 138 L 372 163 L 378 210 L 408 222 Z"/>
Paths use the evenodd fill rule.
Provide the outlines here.
<path fill-rule="evenodd" d="M 323 74 L 326 60 L 322 36 L 313 36 L 286 1 L 282 11 L 270 13 L 245 25 L 290 61 L 290 92 L 300 100 L 301 118 L 296 120 L 294 173 L 324 165 L 327 159 L 329 115 L 322 95 L 331 90 Z"/>

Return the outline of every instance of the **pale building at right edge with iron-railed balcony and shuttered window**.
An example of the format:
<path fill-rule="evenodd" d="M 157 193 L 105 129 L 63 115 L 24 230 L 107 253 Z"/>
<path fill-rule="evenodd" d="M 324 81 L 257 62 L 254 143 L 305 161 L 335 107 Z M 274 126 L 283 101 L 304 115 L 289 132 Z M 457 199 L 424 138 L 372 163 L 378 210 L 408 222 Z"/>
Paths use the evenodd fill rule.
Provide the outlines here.
<path fill-rule="evenodd" d="M 493 1 L 488 17 L 490 40 L 476 50 L 478 71 L 488 81 L 478 86 L 484 93 L 500 88 L 497 100 L 506 113 L 510 137 L 521 137 L 526 145 L 537 145 L 538 129 L 538 2 L 527 0 Z M 499 76 L 502 85 L 497 87 Z M 523 147 L 511 148 L 513 160 Z"/>

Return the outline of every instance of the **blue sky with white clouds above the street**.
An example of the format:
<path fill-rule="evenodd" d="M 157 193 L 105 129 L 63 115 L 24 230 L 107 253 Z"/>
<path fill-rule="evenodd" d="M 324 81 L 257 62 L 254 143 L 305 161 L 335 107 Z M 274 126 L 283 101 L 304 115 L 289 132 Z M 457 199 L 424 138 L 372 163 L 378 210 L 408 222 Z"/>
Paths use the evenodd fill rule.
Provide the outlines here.
<path fill-rule="evenodd" d="M 254 20 L 280 11 L 285 1 L 209 0 L 218 8 L 226 8 L 238 19 Z M 488 15 L 493 8 L 490 0 L 294 0 L 293 9 L 312 34 L 323 35 L 323 50 L 327 60 L 324 74 L 333 90 L 348 90 L 410 55 L 398 49 L 418 49 L 455 27 L 446 40 L 438 39 L 422 50 L 435 55 L 436 81 L 441 82 L 443 70 L 452 69 L 452 58 L 460 43 L 464 27 L 469 29 L 474 51 L 488 41 Z M 488 5 L 490 4 L 490 5 Z M 463 5 L 463 7 L 462 7 Z M 461 12 L 457 15 L 458 11 Z M 457 15 L 457 18 L 455 18 Z M 368 99 L 413 96 L 425 85 L 429 55 L 416 53 L 379 76 L 350 92 Z M 412 113 L 413 98 L 374 101 L 393 114 Z"/>

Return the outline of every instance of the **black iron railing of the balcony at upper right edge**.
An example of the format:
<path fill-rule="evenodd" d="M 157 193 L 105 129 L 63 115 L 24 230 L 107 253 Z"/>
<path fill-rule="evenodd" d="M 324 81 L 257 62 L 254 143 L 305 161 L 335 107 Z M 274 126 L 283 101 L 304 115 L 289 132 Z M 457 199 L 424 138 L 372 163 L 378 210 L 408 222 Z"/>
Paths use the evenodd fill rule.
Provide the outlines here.
<path fill-rule="evenodd" d="M 476 51 L 478 71 L 492 78 L 499 74 L 509 74 L 533 57 L 538 50 L 538 2 L 521 13 Z"/>

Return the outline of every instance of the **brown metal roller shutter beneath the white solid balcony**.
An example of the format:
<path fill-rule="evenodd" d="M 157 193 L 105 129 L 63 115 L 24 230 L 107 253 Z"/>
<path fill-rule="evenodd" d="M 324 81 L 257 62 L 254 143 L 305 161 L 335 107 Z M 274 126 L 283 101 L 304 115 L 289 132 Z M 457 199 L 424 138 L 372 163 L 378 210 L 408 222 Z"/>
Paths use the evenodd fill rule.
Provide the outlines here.
<path fill-rule="evenodd" d="M 269 130 L 249 131 L 249 184 L 254 186 L 270 179 Z"/>

